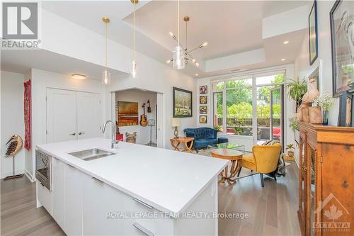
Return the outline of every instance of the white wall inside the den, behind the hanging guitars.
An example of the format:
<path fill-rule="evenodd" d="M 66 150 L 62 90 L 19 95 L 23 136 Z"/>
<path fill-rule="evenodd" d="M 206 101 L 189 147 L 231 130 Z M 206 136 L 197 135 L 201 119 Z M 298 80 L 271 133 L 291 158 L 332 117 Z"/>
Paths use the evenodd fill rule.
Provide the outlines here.
<path fill-rule="evenodd" d="M 147 113 L 147 100 L 150 100 L 150 105 L 152 108 L 151 113 Z M 147 119 L 154 119 L 156 123 L 156 93 L 149 91 L 139 91 L 139 90 L 125 90 L 118 91 L 115 93 L 115 102 L 117 101 L 130 101 L 137 102 L 139 106 L 139 117 L 142 115 L 143 108 L 142 104 L 146 103 L 145 114 Z M 125 133 L 137 132 L 137 143 L 138 144 L 147 144 L 150 141 L 150 126 L 141 126 L 141 125 L 132 125 L 132 126 L 120 126 L 120 133 L 124 135 Z M 156 143 L 156 126 L 152 126 L 152 141 Z"/>

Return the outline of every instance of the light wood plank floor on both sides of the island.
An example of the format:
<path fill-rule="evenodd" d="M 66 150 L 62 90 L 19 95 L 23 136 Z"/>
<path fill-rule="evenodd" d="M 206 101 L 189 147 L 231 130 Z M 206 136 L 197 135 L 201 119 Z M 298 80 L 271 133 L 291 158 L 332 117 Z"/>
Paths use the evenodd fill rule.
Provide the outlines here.
<path fill-rule="evenodd" d="M 219 235 L 300 235 L 295 162 L 275 182 L 259 174 L 240 179 L 233 189 L 219 185 L 220 213 L 249 213 L 249 218 L 219 219 Z M 64 235 L 44 208 L 35 207 L 35 184 L 23 176 L 1 180 L 0 235 Z"/>

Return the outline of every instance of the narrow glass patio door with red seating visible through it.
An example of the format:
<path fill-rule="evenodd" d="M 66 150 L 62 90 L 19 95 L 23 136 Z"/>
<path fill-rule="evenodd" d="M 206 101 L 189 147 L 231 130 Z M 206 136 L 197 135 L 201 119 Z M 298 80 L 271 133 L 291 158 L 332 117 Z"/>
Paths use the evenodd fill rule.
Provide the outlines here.
<path fill-rule="evenodd" d="M 283 86 L 270 89 L 270 137 L 284 147 Z"/>

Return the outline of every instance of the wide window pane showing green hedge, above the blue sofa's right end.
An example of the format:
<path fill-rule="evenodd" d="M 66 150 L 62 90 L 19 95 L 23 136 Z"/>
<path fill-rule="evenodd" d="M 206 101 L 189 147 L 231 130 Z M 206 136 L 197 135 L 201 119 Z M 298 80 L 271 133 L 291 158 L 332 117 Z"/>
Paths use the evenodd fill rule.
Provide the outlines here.
<path fill-rule="evenodd" d="M 227 90 L 227 133 L 252 136 L 252 88 Z"/>

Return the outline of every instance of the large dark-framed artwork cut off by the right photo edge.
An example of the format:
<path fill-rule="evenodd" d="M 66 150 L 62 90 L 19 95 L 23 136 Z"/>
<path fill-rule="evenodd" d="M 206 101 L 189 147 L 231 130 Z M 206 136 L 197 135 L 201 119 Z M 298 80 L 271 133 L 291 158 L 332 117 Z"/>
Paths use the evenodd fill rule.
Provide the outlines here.
<path fill-rule="evenodd" d="M 354 87 L 354 1 L 336 1 L 330 12 L 333 96 Z"/>

